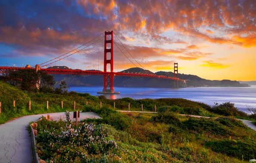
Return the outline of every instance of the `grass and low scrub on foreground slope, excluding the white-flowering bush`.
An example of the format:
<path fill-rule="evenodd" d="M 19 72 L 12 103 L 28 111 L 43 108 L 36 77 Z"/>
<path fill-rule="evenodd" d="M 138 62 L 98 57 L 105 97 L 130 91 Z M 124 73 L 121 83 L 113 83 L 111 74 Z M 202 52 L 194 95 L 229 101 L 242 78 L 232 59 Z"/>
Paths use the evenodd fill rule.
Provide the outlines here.
<path fill-rule="evenodd" d="M 101 115 L 102 119 L 85 119 L 81 123 L 101 125 L 106 134 L 105 140 L 114 140 L 117 148 L 107 154 L 72 158 L 77 162 L 243 163 L 255 158 L 256 132 L 232 118 L 191 118 L 175 113 L 120 113 L 107 106 L 101 109 L 85 106 L 83 111 L 88 110 Z M 63 121 L 40 123 L 44 123 L 38 125 L 41 131 L 52 132 L 54 127 L 56 130 L 64 127 Z M 45 138 L 41 136 L 40 139 L 44 141 Z M 42 143 L 40 145 L 43 146 Z M 40 157 L 50 159 L 51 156 L 45 154 L 56 151 L 55 148 L 58 146 L 54 144 L 53 148 L 47 148 L 50 151 L 40 153 Z M 66 146 L 61 148 L 70 150 Z M 60 160 L 61 153 L 53 155 Z"/>

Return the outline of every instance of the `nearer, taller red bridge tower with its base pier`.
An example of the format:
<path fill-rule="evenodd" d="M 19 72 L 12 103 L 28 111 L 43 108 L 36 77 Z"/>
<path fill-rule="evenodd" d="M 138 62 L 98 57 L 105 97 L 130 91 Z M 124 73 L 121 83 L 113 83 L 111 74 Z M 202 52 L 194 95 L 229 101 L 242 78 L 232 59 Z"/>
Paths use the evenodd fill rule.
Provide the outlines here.
<path fill-rule="evenodd" d="M 104 41 L 104 72 L 107 72 L 107 64 L 110 64 L 110 75 L 104 75 L 103 90 L 102 92 L 97 92 L 98 94 L 120 94 L 120 92 L 114 91 L 114 53 L 113 53 L 113 30 L 111 32 L 105 31 L 105 41 Z M 109 38 L 109 35 L 111 39 Z M 107 44 L 110 44 L 110 48 L 107 48 Z M 110 59 L 107 56 L 110 55 Z"/>

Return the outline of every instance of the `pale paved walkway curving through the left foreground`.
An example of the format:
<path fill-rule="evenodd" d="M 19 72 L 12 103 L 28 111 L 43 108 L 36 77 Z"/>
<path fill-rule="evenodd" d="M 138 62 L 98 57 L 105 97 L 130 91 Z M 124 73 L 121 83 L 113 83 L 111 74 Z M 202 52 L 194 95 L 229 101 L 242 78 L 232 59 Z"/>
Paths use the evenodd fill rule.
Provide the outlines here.
<path fill-rule="evenodd" d="M 48 113 L 50 118 L 63 119 L 64 112 Z M 33 163 L 31 136 L 27 126 L 31 121 L 37 121 L 42 115 L 28 115 L 8 121 L 0 125 L 0 163 Z M 71 112 L 73 118 L 73 112 Z M 85 118 L 100 118 L 94 112 L 80 113 L 79 120 Z"/>

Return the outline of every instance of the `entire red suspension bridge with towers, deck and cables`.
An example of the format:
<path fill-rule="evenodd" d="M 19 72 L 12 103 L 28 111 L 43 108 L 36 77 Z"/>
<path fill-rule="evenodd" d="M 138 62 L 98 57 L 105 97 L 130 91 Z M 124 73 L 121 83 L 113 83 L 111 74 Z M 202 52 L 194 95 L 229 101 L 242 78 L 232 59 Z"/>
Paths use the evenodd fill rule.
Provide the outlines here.
<path fill-rule="evenodd" d="M 103 33 L 101 33 L 101 34 L 103 34 Z M 96 39 L 99 36 L 101 36 L 101 35 L 99 35 L 96 38 L 92 39 L 91 41 L 85 43 L 84 45 L 79 46 L 78 48 L 76 48 L 76 49 L 74 49 L 72 51 L 69 51 L 66 54 L 63 54 L 63 55 L 61 55 L 59 57 L 55 57 L 54 59 L 49 60 L 47 62 L 44 62 L 44 63 L 41 63 L 41 64 L 37 64 L 34 67 L 30 67 L 29 65 L 27 65 L 26 67 L 0 66 L 0 75 L 8 75 L 10 70 L 18 70 L 18 69 L 36 69 L 36 70 L 41 70 L 43 72 L 47 72 L 48 74 L 103 75 L 104 76 L 103 90 L 102 90 L 102 92 L 98 92 L 100 94 L 119 94 L 119 92 L 115 92 L 114 91 L 114 76 L 137 76 L 137 77 L 147 77 L 147 78 L 169 79 L 169 80 L 177 81 L 177 82 L 174 82 L 175 87 L 178 87 L 178 85 L 179 85 L 178 83 L 179 82 L 183 82 L 183 83 L 186 82 L 185 80 L 182 80 L 182 79 L 178 78 L 178 63 L 174 63 L 174 77 L 167 76 L 167 73 L 165 73 L 164 75 L 155 75 L 155 74 L 150 74 L 150 73 L 145 74 L 145 73 L 114 72 L 114 70 L 113 70 L 113 68 L 114 68 L 114 52 L 113 52 L 114 48 L 113 48 L 113 44 L 115 44 L 117 47 L 118 47 L 118 45 L 116 44 L 116 42 L 114 42 L 113 34 L 114 34 L 113 31 L 111 31 L 111 32 L 106 32 L 105 31 L 105 34 L 103 36 L 105 38 L 105 40 L 104 40 L 104 70 L 103 71 L 81 70 L 81 69 L 50 69 L 50 68 L 41 68 L 41 67 L 46 67 L 46 66 L 52 65 L 53 63 L 56 64 L 56 62 L 59 62 L 60 60 L 64 60 L 65 58 L 70 57 L 71 55 L 76 54 L 79 51 L 82 51 L 83 49 L 85 49 L 88 46 L 94 44 L 95 42 L 98 42 L 103 37 L 101 37 L 97 41 L 94 41 L 93 43 L 85 46 L 89 42 L 92 42 L 94 39 Z M 107 39 L 107 36 L 109 36 L 110 39 Z M 116 36 L 116 34 L 115 34 L 115 36 Z M 118 37 L 117 37 L 117 39 L 119 40 Z M 122 44 L 121 41 L 120 41 L 120 43 Z M 110 46 L 108 46 L 109 44 L 110 44 Z M 81 48 L 82 46 L 85 46 L 85 47 Z M 107 48 L 107 47 L 110 47 L 110 48 Z M 123 45 L 123 47 L 125 48 L 124 45 Z M 81 49 L 79 49 L 79 48 L 81 48 Z M 120 48 L 119 48 L 119 50 L 121 51 Z M 125 50 L 128 51 L 126 48 L 125 48 Z M 75 52 L 73 52 L 73 51 L 75 51 Z M 73 53 L 71 53 L 71 52 L 73 52 Z M 69 53 L 71 53 L 71 54 L 69 54 Z M 128 53 L 129 53 L 129 51 L 128 51 Z M 124 53 L 122 52 L 122 54 L 124 54 Z M 132 64 L 134 64 L 125 54 L 124 54 L 124 56 Z M 135 60 L 135 58 L 132 55 L 131 55 L 131 57 Z M 107 59 L 107 58 L 110 58 L 110 59 Z M 137 60 L 135 60 L 135 61 L 137 62 Z M 110 69 L 107 69 L 108 64 L 110 64 Z M 137 64 L 139 64 L 141 66 L 141 64 L 139 62 L 137 62 Z M 136 64 L 134 64 L 134 66 L 136 66 Z M 143 66 L 141 66 L 141 67 L 143 69 L 145 69 Z"/>

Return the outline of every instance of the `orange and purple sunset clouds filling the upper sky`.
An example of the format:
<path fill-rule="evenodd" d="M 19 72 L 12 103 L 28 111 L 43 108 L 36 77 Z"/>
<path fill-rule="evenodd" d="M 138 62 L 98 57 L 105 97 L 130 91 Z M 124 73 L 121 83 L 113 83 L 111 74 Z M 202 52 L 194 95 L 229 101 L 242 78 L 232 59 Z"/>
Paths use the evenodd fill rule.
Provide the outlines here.
<path fill-rule="evenodd" d="M 52 58 L 105 30 L 114 30 L 142 64 L 159 57 L 197 60 L 213 54 L 201 52 L 195 42 L 256 46 L 254 0 L 2 1 L 0 42 L 14 50 L 0 57 Z M 135 62 L 116 37 L 115 42 Z M 97 60 L 103 45 L 100 40 L 79 54 Z M 124 56 L 115 45 L 114 53 L 121 63 Z"/>

